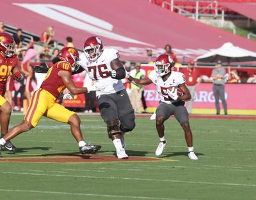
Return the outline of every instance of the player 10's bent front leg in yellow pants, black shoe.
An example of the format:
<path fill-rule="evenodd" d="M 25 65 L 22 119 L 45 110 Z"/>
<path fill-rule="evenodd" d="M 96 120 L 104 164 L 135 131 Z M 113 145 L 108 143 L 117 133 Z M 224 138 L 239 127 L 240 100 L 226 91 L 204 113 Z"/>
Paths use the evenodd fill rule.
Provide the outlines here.
<path fill-rule="evenodd" d="M 84 142 L 80 127 L 81 121 L 76 112 L 69 111 L 62 105 L 54 103 L 51 108 L 45 112 L 45 116 L 47 118 L 55 119 L 56 121 L 68 123 L 70 125 L 71 133 L 76 139 L 79 146 L 79 151 L 81 153 L 95 153 L 100 150 L 101 146 L 93 146 Z"/>

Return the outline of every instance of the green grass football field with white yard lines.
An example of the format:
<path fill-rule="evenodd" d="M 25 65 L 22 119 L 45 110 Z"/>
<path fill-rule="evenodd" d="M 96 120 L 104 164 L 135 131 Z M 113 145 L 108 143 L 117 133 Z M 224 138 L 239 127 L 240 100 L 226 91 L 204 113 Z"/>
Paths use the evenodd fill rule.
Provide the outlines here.
<path fill-rule="evenodd" d="M 22 116 L 13 115 L 10 127 L 21 121 Z M 17 153 L 2 152 L 3 158 L 22 159 L 5 162 L 0 158 L 0 197 L 3 200 L 256 199 L 255 122 L 190 119 L 197 161 L 189 160 L 182 128 L 175 119 L 169 119 L 165 123 L 168 144 L 161 160 L 22 162 L 26 158 L 78 153 L 68 125 L 42 118 L 37 128 L 12 140 L 19 148 Z M 86 142 L 102 145 L 97 155 L 115 157 L 106 125 L 99 116 L 81 116 L 81 127 Z M 131 158 L 156 158 L 154 152 L 159 140 L 154 121 L 136 118 L 136 128 L 125 135 L 125 140 Z"/>

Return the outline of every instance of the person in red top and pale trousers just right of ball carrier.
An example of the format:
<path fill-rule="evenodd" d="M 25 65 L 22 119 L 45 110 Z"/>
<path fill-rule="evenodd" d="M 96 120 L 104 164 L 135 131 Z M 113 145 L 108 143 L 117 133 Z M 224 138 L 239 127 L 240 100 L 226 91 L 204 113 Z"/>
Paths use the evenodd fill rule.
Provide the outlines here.
<path fill-rule="evenodd" d="M 188 68 L 186 68 L 186 70 L 184 70 L 183 73 L 186 77 L 186 86 L 189 89 L 191 94 L 191 100 L 186 102 L 186 109 L 190 114 L 192 113 L 192 109 L 193 109 L 193 102 L 194 102 L 196 87 L 200 84 L 200 82 L 202 82 L 202 76 L 199 70 L 195 68 L 194 61 L 189 61 Z"/>

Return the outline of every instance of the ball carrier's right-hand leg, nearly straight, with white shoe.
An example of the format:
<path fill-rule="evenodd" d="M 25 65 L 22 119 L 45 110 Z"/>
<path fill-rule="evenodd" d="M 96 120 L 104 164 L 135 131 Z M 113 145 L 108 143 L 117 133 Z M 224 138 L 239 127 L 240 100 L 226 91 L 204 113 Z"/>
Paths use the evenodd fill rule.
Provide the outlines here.
<path fill-rule="evenodd" d="M 197 160 L 198 158 L 194 153 L 193 135 L 189 125 L 188 111 L 186 110 L 186 107 L 184 107 L 184 102 L 177 102 L 173 105 L 173 109 L 175 118 L 179 121 L 184 130 L 184 136 L 188 146 L 188 156 L 192 160 Z"/>

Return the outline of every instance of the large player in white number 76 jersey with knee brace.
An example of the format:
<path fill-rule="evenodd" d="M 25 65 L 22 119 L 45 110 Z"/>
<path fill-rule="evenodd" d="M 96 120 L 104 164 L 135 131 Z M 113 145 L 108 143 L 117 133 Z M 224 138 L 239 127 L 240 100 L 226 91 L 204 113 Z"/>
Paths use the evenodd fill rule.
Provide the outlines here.
<path fill-rule="evenodd" d="M 126 73 L 118 51 L 103 48 L 100 38 L 92 36 L 84 42 L 84 54 L 79 58 L 78 65 L 86 70 L 93 82 L 104 85 L 103 91 L 96 92 L 100 115 L 107 125 L 117 157 L 128 158 L 124 133 L 135 127 L 134 110 L 121 81 Z"/>

